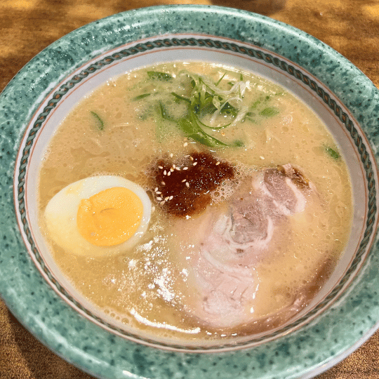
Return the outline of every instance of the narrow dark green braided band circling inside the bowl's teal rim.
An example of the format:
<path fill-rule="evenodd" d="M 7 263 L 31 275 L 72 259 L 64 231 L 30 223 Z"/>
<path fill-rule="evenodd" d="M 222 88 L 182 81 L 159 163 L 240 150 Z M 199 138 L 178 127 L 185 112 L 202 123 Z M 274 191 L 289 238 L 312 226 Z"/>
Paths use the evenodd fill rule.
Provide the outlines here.
<path fill-rule="evenodd" d="M 25 230 L 25 234 L 27 237 L 27 241 L 30 244 L 32 253 L 34 254 L 34 257 L 36 258 L 36 261 L 38 262 L 39 266 L 41 267 L 41 270 L 47 275 L 49 281 L 51 281 L 51 285 L 53 285 L 59 293 L 69 301 L 69 303 L 74 304 L 79 310 L 84 312 L 90 319 L 93 319 L 94 321 L 97 321 L 98 323 L 102 324 L 103 326 L 107 326 L 107 328 L 111 329 L 112 331 L 117 331 L 121 335 L 126 335 L 129 337 L 137 338 L 138 340 L 143 340 L 147 343 L 154 343 L 153 340 L 147 340 L 146 338 L 140 338 L 138 335 L 133 335 L 131 333 L 127 333 L 122 328 L 118 328 L 117 326 L 114 326 L 112 324 L 109 324 L 107 321 L 101 319 L 101 317 L 96 316 L 91 312 L 91 310 L 86 309 L 83 305 L 81 305 L 80 302 L 78 302 L 72 295 L 70 295 L 64 286 L 62 286 L 59 282 L 59 280 L 55 279 L 54 275 L 51 273 L 50 270 L 48 270 L 48 267 L 46 267 L 44 259 L 41 257 L 38 248 L 36 247 L 36 244 L 34 243 L 34 240 L 32 238 L 32 232 L 30 230 L 30 227 L 27 222 L 27 209 L 25 206 L 25 175 L 27 173 L 27 164 L 30 156 L 30 150 L 32 149 L 34 139 L 36 138 L 36 135 L 39 132 L 39 129 L 46 121 L 46 118 L 51 114 L 51 111 L 55 108 L 55 106 L 58 104 L 58 102 L 64 100 L 65 95 L 69 93 L 69 91 L 74 88 L 77 84 L 81 83 L 83 79 L 87 79 L 88 77 L 91 77 L 92 74 L 95 74 L 98 72 L 98 70 L 101 70 L 102 68 L 106 67 L 107 65 L 112 64 L 113 62 L 117 60 L 123 60 L 125 58 L 130 57 L 131 55 L 138 55 L 140 53 L 145 53 L 145 51 L 152 51 L 154 49 L 164 49 L 164 48 L 173 48 L 176 47 L 183 47 L 183 46 L 198 46 L 198 47 L 206 47 L 210 49 L 222 49 L 225 51 L 234 51 L 236 53 L 240 53 L 242 55 L 248 55 L 250 57 L 254 57 L 258 60 L 264 60 L 267 65 L 274 65 L 274 67 L 280 67 L 280 69 L 284 70 L 288 74 L 292 75 L 299 81 L 302 81 L 303 84 L 306 84 L 314 93 L 316 93 L 325 103 L 330 107 L 335 116 L 340 119 L 340 122 L 343 124 L 343 127 L 346 128 L 346 130 L 350 133 L 352 136 L 352 140 L 354 141 L 354 144 L 357 146 L 361 161 L 364 163 L 364 168 L 366 170 L 366 177 L 368 181 L 368 220 L 367 220 L 367 228 L 366 228 L 366 235 L 364 239 L 361 241 L 361 246 L 359 247 L 359 250 L 357 251 L 354 260 L 352 261 L 350 265 L 350 269 L 347 271 L 345 276 L 339 281 L 338 285 L 336 285 L 333 288 L 333 291 L 328 294 L 328 296 L 319 302 L 317 307 L 314 307 L 310 312 L 307 312 L 304 317 L 300 317 L 299 319 L 296 319 L 294 322 L 284 326 L 283 328 L 279 328 L 278 330 L 272 332 L 272 333 L 265 333 L 265 335 L 262 335 L 257 338 L 251 338 L 248 341 L 246 341 L 244 344 L 239 343 L 238 346 L 241 347 L 242 345 L 251 345 L 251 343 L 260 343 L 264 340 L 267 340 L 267 338 L 274 338 L 277 335 L 280 335 L 281 333 L 286 333 L 290 331 L 291 329 L 295 328 L 299 324 L 307 321 L 310 319 L 310 317 L 313 317 L 314 314 L 322 310 L 326 305 L 331 302 L 343 289 L 346 282 L 350 279 L 351 275 L 354 274 L 354 271 L 359 266 L 359 263 L 361 262 L 361 256 L 366 253 L 366 246 L 368 242 L 371 239 L 371 234 L 373 233 L 373 227 L 375 225 L 375 216 L 376 216 L 376 208 L 375 208 L 375 195 L 376 195 L 376 187 L 375 187 L 375 180 L 373 175 L 373 166 L 371 164 L 371 160 L 369 157 L 369 154 L 366 150 L 366 146 L 361 141 L 361 137 L 357 131 L 357 128 L 355 128 L 353 121 L 348 117 L 348 115 L 343 111 L 343 109 L 337 105 L 333 97 L 324 91 L 323 88 L 321 88 L 315 81 L 310 79 L 307 75 L 303 74 L 299 69 L 296 69 L 292 65 L 288 65 L 283 60 L 280 60 L 279 58 L 273 57 L 271 54 L 265 53 L 261 51 L 259 48 L 246 48 L 245 46 L 239 46 L 235 43 L 225 42 L 225 41 L 217 41 L 213 39 L 196 39 L 196 38 L 173 38 L 173 39 L 157 39 L 152 41 L 147 41 L 144 43 L 136 44 L 135 46 L 132 46 L 131 48 L 123 48 L 121 51 L 117 51 L 116 53 L 112 53 L 112 55 L 107 55 L 105 58 L 102 58 L 100 60 L 97 60 L 96 62 L 92 63 L 91 65 L 88 65 L 88 67 L 84 68 L 79 74 L 75 74 L 74 77 L 69 79 L 67 82 L 62 84 L 60 86 L 58 91 L 55 91 L 51 98 L 48 100 L 48 105 L 42 109 L 42 112 L 39 113 L 36 116 L 36 121 L 34 122 L 33 127 L 29 131 L 29 135 L 27 138 L 27 142 L 25 143 L 25 148 L 22 151 L 22 157 L 20 158 L 21 164 L 20 164 L 20 172 L 18 175 L 18 202 L 19 202 L 19 209 L 18 212 L 20 213 L 20 218 L 22 220 L 23 229 Z M 163 346 L 162 343 L 158 343 L 157 345 Z M 232 345 L 226 345 L 223 343 L 219 348 L 223 349 L 227 346 L 234 346 L 235 343 L 232 343 Z M 168 347 L 175 347 L 176 349 L 183 350 L 183 347 L 180 345 L 173 345 L 170 344 Z M 214 349 L 214 347 L 212 347 Z M 205 347 L 192 347 L 192 350 L 206 350 Z"/>

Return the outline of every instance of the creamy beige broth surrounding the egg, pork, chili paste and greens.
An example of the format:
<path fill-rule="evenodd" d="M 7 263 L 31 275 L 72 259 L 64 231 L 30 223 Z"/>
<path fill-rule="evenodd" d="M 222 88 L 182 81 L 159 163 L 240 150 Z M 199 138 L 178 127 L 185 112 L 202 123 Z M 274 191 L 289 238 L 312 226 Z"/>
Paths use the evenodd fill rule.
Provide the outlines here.
<path fill-rule="evenodd" d="M 231 145 L 239 141 L 242 146 L 204 147 L 175 127 L 167 128 L 164 134 L 157 133 L 154 112 L 147 112 L 149 96 L 133 99 L 160 91 L 166 85 L 159 81 L 157 89 L 154 81 L 146 80 L 147 71 L 175 74 L 182 69 L 206 75 L 215 82 L 225 72 L 225 79 L 236 81 L 242 74 L 244 81 L 250 81 L 251 90 L 244 96 L 250 105 L 258 98 L 270 97 L 255 112 L 253 121 L 207 129 L 214 138 Z M 170 112 L 185 112 L 182 105 L 174 101 L 172 105 Z M 263 109 L 275 112 L 267 111 L 269 116 L 259 114 Z M 100 128 L 92 112 L 101 118 Z M 81 100 L 55 133 L 41 165 L 41 230 L 51 245 L 55 262 L 77 290 L 105 314 L 127 326 L 191 339 L 266 331 L 284 324 L 312 300 L 333 271 L 349 237 L 350 178 L 342 157 L 335 159 L 327 149 L 338 152 L 331 134 L 316 115 L 291 93 L 265 79 L 200 62 L 136 70 L 108 81 Z M 300 168 L 312 182 L 314 196 L 319 199 L 314 206 L 288 219 L 286 227 L 291 233 L 283 234 L 282 248 L 250 267 L 259 281 L 251 307 L 251 321 L 255 324 L 217 327 L 196 316 L 196 307 L 192 305 L 199 301 L 199 293 L 193 290 L 193 267 L 188 258 L 196 255 L 196 238 L 193 248 L 187 246 L 191 245 L 197 222 L 204 213 L 188 220 L 167 215 L 150 192 L 149 168 L 159 157 L 172 154 L 173 159 L 180 159 L 204 150 L 236 167 L 239 178 L 289 163 Z M 91 258 L 66 253 L 46 232 L 46 204 L 72 182 L 109 174 L 133 180 L 149 192 L 155 210 L 147 233 L 135 248 L 119 255 Z M 226 183 L 225 191 L 217 189 L 210 206 L 227 206 L 236 187 L 235 183 Z M 294 299 L 298 299 L 298 307 L 288 311 Z"/>

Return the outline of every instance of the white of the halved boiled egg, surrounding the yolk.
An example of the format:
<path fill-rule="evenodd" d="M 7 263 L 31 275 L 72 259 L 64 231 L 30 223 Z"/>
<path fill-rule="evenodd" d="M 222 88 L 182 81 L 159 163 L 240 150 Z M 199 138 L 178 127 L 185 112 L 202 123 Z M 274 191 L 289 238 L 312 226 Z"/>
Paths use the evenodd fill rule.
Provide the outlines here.
<path fill-rule="evenodd" d="M 133 191 L 142 201 L 142 220 L 133 237 L 115 246 L 95 246 L 81 236 L 77 228 L 77 212 L 82 199 L 104 189 L 125 187 Z M 102 175 L 78 180 L 67 185 L 54 195 L 46 206 L 44 217 L 48 235 L 67 253 L 88 257 L 117 254 L 135 246 L 149 225 L 152 204 L 140 185 L 119 176 Z"/>

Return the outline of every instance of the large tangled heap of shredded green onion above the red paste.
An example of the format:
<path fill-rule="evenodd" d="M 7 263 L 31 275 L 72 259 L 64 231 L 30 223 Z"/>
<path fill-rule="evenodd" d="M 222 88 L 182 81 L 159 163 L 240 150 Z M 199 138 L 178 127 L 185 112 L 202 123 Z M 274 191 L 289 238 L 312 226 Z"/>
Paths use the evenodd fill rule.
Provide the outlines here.
<path fill-rule="evenodd" d="M 241 73 L 239 80 L 236 77 L 232 81 L 225 79 L 227 72 L 223 73 L 217 81 L 187 70 L 181 71 L 175 78 L 171 74 L 157 71 L 149 71 L 147 75 L 152 80 L 172 82 L 172 85 L 168 84 L 170 89 L 159 96 L 155 96 L 155 93 L 142 93 L 133 98 L 133 100 L 141 100 L 151 95 L 147 101 L 150 109 L 154 109 L 153 112 L 156 114 L 157 133 L 161 137 L 166 135 L 169 128 L 174 127 L 187 138 L 208 147 L 243 147 L 244 142 L 241 140 L 234 140 L 230 143 L 222 142 L 208 134 L 208 131 L 210 129 L 218 131 L 228 126 L 234 126 L 239 121 L 248 120 L 256 123 L 255 117 L 258 115 L 272 117 L 279 113 L 277 108 L 267 107 L 270 95 L 266 93 L 258 92 L 259 98 L 251 107 L 244 104 L 244 94 L 251 90 L 251 84 L 250 81 L 244 81 Z M 184 95 L 171 92 L 173 88 L 178 88 L 175 87 L 176 81 L 180 86 L 187 86 L 183 92 Z M 227 84 L 230 84 L 230 87 Z M 175 112 L 171 114 L 172 100 L 167 98 L 167 95 L 173 96 L 173 102 L 180 104 L 180 117 L 174 116 Z"/>

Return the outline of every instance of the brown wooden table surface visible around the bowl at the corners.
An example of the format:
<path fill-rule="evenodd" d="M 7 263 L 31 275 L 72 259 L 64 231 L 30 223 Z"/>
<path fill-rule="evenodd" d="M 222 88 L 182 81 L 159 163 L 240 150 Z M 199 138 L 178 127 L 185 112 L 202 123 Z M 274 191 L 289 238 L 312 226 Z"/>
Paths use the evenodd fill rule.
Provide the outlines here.
<path fill-rule="evenodd" d="M 379 87 L 379 0 L 1 0 L 0 91 L 30 59 L 82 25 L 161 4 L 213 4 L 262 13 L 345 55 Z M 379 332 L 317 379 L 379 378 Z M 41 345 L 0 300 L 1 379 L 91 379 Z"/>

